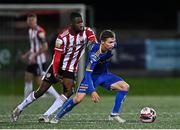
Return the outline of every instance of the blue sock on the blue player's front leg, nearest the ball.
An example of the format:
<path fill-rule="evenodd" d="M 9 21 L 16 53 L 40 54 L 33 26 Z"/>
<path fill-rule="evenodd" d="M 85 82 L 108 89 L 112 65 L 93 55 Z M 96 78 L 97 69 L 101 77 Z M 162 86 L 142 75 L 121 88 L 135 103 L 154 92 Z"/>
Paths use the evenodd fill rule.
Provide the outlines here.
<path fill-rule="evenodd" d="M 121 105 L 125 99 L 125 96 L 128 94 L 128 91 L 119 91 L 116 94 L 115 102 L 114 102 L 114 107 L 112 109 L 112 113 L 119 113 L 121 109 Z"/>

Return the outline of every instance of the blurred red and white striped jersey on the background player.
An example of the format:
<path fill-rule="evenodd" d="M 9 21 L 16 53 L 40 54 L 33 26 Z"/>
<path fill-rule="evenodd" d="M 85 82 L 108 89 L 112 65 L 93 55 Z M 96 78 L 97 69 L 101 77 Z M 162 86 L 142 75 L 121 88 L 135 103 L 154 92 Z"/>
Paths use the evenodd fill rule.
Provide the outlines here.
<path fill-rule="evenodd" d="M 40 41 L 40 38 L 45 37 L 46 32 L 45 30 L 37 26 L 35 29 L 30 28 L 29 29 L 29 40 L 30 40 L 30 51 L 32 53 L 36 53 L 39 51 L 39 49 L 42 47 L 42 43 Z M 31 58 L 31 56 L 29 57 Z M 40 55 L 37 56 L 36 62 L 38 64 L 42 64 L 46 62 L 46 55 L 45 53 L 41 53 Z"/>

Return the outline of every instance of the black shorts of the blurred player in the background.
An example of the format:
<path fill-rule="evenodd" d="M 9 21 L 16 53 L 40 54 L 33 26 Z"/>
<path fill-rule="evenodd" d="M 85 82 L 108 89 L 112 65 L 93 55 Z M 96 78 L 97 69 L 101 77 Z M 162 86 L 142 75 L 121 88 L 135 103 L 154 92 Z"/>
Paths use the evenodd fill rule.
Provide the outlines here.
<path fill-rule="evenodd" d="M 26 72 L 32 73 L 35 76 L 42 76 L 42 72 L 45 71 L 45 66 L 45 63 L 30 64 L 26 67 Z"/>

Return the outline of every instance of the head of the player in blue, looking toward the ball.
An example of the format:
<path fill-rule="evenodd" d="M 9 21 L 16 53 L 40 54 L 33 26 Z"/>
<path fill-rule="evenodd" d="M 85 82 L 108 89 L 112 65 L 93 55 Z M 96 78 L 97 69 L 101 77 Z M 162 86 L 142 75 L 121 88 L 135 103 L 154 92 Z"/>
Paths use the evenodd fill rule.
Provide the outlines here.
<path fill-rule="evenodd" d="M 112 50 L 116 43 L 116 35 L 111 30 L 104 30 L 100 34 L 100 40 L 106 50 Z"/>

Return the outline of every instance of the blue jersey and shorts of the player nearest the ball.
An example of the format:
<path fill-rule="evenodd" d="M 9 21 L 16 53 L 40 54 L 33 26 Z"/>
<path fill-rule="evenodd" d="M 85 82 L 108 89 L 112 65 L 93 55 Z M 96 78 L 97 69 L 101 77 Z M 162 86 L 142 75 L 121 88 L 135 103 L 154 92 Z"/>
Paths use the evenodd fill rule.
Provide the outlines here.
<path fill-rule="evenodd" d="M 78 88 L 78 92 L 91 93 L 98 85 L 110 90 L 110 85 L 123 80 L 122 78 L 108 72 L 112 51 L 101 53 L 99 43 L 95 43 L 89 54 L 85 67 L 84 78 Z"/>

